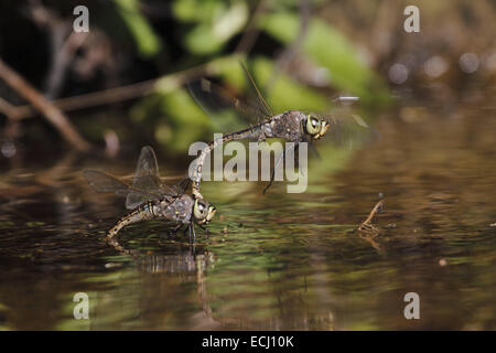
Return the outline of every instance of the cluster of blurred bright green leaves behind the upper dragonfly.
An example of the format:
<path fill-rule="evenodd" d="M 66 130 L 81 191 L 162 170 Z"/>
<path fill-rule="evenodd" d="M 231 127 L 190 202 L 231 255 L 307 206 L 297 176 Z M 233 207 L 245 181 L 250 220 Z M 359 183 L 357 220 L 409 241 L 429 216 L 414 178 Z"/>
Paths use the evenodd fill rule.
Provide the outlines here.
<path fill-rule="evenodd" d="M 117 0 L 116 0 L 117 1 Z M 136 4 L 136 0 L 126 0 Z M 298 7 L 279 4 L 266 13 L 258 26 L 280 41 L 291 45 L 300 30 Z M 309 87 L 283 72 L 277 72 L 272 58 L 257 55 L 219 56 L 220 51 L 248 22 L 248 6 L 240 1 L 176 0 L 172 12 L 183 23 L 182 43 L 193 62 L 207 62 L 209 76 L 216 76 L 235 95 L 242 97 L 248 83 L 239 65 L 245 62 L 274 114 L 288 109 L 326 113 L 333 105 L 326 95 Z M 360 62 L 353 45 L 333 26 L 312 17 L 301 54 L 316 65 L 327 68 L 331 85 L 357 95 L 365 104 L 381 103 L 388 97 L 387 89 L 375 73 Z M 202 57 L 202 58 L 200 58 Z M 247 126 L 235 115 L 217 114 L 208 117 L 181 88 L 175 75 L 168 75 L 155 86 L 155 95 L 143 98 L 132 109 L 132 118 L 141 125 L 153 127 L 158 142 L 170 150 L 184 152 L 191 142 L 209 141 L 214 131 L 230 132 Z M 263 88 L 267 87 L 267 92 Z M 256 120 L 256 119 L 254 119 Z"/>

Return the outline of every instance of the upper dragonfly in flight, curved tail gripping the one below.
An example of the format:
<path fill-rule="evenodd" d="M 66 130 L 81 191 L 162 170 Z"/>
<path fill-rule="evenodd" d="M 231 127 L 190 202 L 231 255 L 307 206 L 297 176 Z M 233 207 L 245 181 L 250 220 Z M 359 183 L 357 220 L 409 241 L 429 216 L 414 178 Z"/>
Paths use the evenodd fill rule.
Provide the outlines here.
<path fill-rule="evenodd" d="M 282 138 L 287 141 L 295 142 L 294 148 L 296 149 L 296 142 L 311 142 L 312 140 L 319 140 L 327 132 L 330 128 L 328 121 L 320 118 L 315 114 L 306 115 L 300 110 L 288 110 L 282 114 L 274 115 L 261 96 L 254 78 L 242 63 L 241 67 L 249 83 L 251 95 L 255 98 L 250 104 L 241 103 L 239 99 L 230 96 L 228 93 L 207 79 L 201 79 L 197 83 L 188 85 L 190 93 L 193 98 L 211 116 L 215 115 L 215 113 L 213 114 L 213 110 L 233 108 L 241 118 L 248 119 L 249 121 L 254 121 L 254 119 L 257 120 L 254 121 L 255 124 L 249 128 L 224 135 L 222 138 L 214 140 L 205 147 L 196 159 L 196 165 L 193 170 L 193 175 L 191 175 L 193 181 L 193 195 L 195 197 L 202 197 L 202 194 L 200 193 L 200 182 L 205 158 L 219 143 L 241 139 L 263 141 L 267 138 Z M 282 158 L 287 152 L 288 149 L 276 159 L 274 165 L 278 165 L 282 161 Z M 263 192 L 266 192 L 272 184 L 274 170 L 276 168 L 272 170 L 270 182 Z"/>

